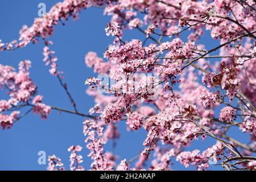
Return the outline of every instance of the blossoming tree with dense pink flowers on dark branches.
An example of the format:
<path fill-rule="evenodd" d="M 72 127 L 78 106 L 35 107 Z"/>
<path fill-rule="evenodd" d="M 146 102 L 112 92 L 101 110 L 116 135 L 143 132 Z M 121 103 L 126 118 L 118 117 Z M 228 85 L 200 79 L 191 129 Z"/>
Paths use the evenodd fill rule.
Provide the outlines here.
<path fill-rule="evenodd" d="M 95 105 L 81 113 L 57 67 L 50 37 L 55 26 L 93 7 L 112 16 L 105 31 L 115 39 L 104 58 L 95 52 L 85 55 L 86 65 L 99 76 L 85 78 Z M 144 39 L 123 39 L 126 29 L 137 30 Z M 185 31 L 188 38 L 181 40 Z M 197 43 L 205 31 L 219 40 L 217 47 L 206 49 Z M 43 61 L 67 93 L 73 110 L 43 103 L 30 78 L 29 60 L 21 61 L 18 71 L 0 64 L 0 86 L 9 96 L 0 100 L 3 130 L 31 112 L 47 118 L 50 111 L 58 110 L 84 117 L 91 169 L 170 170 L 172 158 L 198 170 L 207 170 L 209 164 L 226 170 L 256 169 L 256 1 L 64 0 L 36 18 L 31 27 L 23 26 L 19 34 L 18 40 L 0 42 L 0 51 L 44 44 Z M 20 108 L 28 110 L 20 113 Z M 147 131 L 144 150 L 133 159 L 133 168 L 131 160 L 118 164 L 115 155 L 104 151 L 106 142 L 119 138 L 118 122 L 127 130 Z M 250 142 L 230 137 L 228 131 L 233 128 L 249 134 Z M 203 152 L 187 150 L 193 140 L 207 137 L 216 144 Z M 71 170 L 84 170 L 81 149 L 68 148 Z M 149 168 L 144 166 L 147 161 Z M 65 169 L 55 155 L 48 162 L 49 170 Z"/>

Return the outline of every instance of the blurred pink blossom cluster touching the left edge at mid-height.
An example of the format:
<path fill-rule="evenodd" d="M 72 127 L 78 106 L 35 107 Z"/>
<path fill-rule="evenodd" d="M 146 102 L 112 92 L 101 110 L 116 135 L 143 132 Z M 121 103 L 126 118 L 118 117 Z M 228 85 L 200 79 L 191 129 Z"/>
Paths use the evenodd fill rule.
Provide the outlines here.
<path fill-rule="evenodd" d="M 2 89 L 7 89 L 9 100 L 0 101 L 0 125 L 3 129 L 10 128 L 14 121 L 18 119 L 20 111 L 15 110 L 10 114 L 3 112 L 15 109 L 21 102 L 26 103 L 36 93 L 36 85 L 29 77 L 28 69 L 31 67 L 29 60 L 24 60 L 19 63 L 19 71 L 10 66 L 0 64 L 0 86 Z"/>

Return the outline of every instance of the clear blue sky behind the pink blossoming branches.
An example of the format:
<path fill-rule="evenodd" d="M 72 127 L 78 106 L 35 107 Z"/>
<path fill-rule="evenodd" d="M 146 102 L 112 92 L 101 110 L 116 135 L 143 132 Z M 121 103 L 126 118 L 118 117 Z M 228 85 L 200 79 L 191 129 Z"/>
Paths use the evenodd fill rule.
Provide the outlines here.
<path fill-rule="evenodd" d="M 56 0 L 38 1 L 0 1 L 0 39 L 3 42 L 10 42 L 18 39 L 18 32 L 23 24 L 31 26 L 34 18 L 38 14 L 38 3 L 46 3 L 47 11 L 54 5 Z M 86 95 L 84 81 L 87 77 L 94 76 L 92 69 L 86 68 L 84 56 L 88 51 L 98 53 L 102 56 L 105 49 L 113 38 L 105 35 L 104 28 L 110 21 L 109 16 L 103 16 L 102 9 L 88 9 L 80 14 L 79 20 L 70 20 L 65 26 L 56 26 L 53 36 L 52 50 L 56 51 L 59 68 L 64 71 L 64 81 L 68 83 L 68 88 L 72 93 L 79 110 L 88 113 L 90 107 L 94 105 L 93 98 Z M 184 34 L 185 35 L 185 34 Z M 142 38 L 141 32 L 126 32 L 124 40 Z M 185 39 L 185 36 L 181 36 Z M 183 39 L 183 40 L 184 40 Z M 200 41 L 207 44 L 207 48 L 212 48 L 218 42 L 209 44 L 209 34 Z M 211 40 L 212 41 L 212 40 Z M 64 90 L 60 87 L 55 77 L 49 75 L 48 69 L 43 59 L 43 44 L 32 45 L 20 48 L 16 51 L 0 52 L 0 63 L 12 65 L 17 68 L 19 61 L 29 59 L 32 61 L 31 77 L 38 85 L 39 94 L 44 96 L 43 102 L 52 106 L 61 106 L 72 109 Z M 3 91 L 0 99 L 6 98 Z M 17 170 L 45 170 L 47 165 L 38 164 L 38 151 L 46 151 L 47 156 L 55 154 L 59 156 L 65 167 L 69 167 L 69 152 L 67 148 L 73 144 L 81 145 L 84 156 L 83 166 L 88 169 L 92 162 L 88 155 L 82 134 L 83 118 L 76 115 L 57 113 L 52 110 L 47 121 L 42 120 L 39 115 L 33 113 L 22 118 L 15 123 L 10 130 L 0 131 L 0 169 Z M 126 131 L 125 123 L 118 125 L 121 131 L 121 139 L 118 140 L 114 152 L 119 155 L 119 159 L 131 159 L 138 155 L 139 150 L 143 150 L 143 140 L 146 132 Z M 240 138 L 241 139 L 241 138 Z M 205 150 L 215 141 L 207 139 L 207 142 L 197 141 L 187 150 L 199 148 Z M 112 143 L 106 145 L 106 151 L 112 151 Z M 175 162 L 175 160 L 173 160 Z M 173 169 L 186 169 L 180 164 L 174 163 Z M 194 168 L 187 168 L 194 169 Z M 212 169 L 216 169 L 213 167 Z"/>

